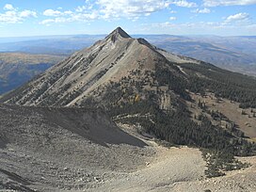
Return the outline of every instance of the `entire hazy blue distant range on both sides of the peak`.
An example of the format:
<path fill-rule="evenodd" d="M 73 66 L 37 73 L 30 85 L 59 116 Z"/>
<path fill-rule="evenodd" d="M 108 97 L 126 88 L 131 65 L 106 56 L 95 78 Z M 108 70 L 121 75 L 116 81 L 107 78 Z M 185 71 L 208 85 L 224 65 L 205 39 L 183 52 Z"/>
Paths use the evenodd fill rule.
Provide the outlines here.
<path fill-rule="evenodd" d="M 256 75 L 256 37 L 134 35 L 171 53 L 191 56 L 218 67 Z M 0 39 L 0 52 L 69 56 L 104 35 L 71 35 Z"/>

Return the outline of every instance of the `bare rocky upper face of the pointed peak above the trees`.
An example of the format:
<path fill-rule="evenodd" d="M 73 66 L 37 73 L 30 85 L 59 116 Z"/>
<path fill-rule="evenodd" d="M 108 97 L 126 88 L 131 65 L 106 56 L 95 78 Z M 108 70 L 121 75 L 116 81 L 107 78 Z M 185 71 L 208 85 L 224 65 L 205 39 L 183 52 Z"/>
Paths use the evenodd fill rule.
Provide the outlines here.
<path fill-rule="evenodd" d="M 17 97 L 12 97 L 12 94 L 5 99 L 1 98 L 0 102 L 82 106 L 83 102 L 88 102 L 90 96 L 102 100 L 108 90 L 105 88 L 112 85 L 111 82 L 122 82 L 124 78 L 136 78 L 141 81 L 144 75 L 146 78 L 147 72 L 155 72 L 159 63 L 168 65 L 168 60 L 147 40 L 133 39 L 118 27 L 104 40 L 75 53 L 30 85 L 25 85 L 23 91 L 17 90 Z M 142 77 L 137 76 L 137 71 Z M 44 81 L 45 83 L 42 83 Z M 102 95 L 98 94 L 98 88 L 103 90 Z M 55 97 L 52 97 L 53 94 Z"/>

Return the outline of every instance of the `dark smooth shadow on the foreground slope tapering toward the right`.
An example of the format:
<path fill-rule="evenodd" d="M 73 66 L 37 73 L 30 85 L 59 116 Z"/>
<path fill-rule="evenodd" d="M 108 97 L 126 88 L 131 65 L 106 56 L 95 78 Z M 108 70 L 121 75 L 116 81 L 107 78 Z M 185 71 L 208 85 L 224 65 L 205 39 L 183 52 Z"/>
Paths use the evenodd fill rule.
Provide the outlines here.
<path fill-rule="evenodd" d="M 137 147 L 147 145 L 135 136 L 120 130 L 100 109 L 51 108 L 45 111 L 45 117 L 49 122 L 54 122 L 73 134 L 83 136 L 104 147 L 107 147 L 107 143 Z"/>

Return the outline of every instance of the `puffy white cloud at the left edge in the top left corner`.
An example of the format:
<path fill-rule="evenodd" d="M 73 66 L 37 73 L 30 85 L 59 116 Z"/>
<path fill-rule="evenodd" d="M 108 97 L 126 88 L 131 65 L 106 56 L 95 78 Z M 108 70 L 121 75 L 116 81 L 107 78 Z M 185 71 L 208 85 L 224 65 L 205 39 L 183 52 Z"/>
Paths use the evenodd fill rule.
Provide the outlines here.
<path fill-rule="evenodd" d="M 0 13 L 0 24 L 21 24 L 25 19 L 37 17 L 37 12 L 33 10 L 20 10 L 13 6 L 5 6 L 6 11 Z"/>

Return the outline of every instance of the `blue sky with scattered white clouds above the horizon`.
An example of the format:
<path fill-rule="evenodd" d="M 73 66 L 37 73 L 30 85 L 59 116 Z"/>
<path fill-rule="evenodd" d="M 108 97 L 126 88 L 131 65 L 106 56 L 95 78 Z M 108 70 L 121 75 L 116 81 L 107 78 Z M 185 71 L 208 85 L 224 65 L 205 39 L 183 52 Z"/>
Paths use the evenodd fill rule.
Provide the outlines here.
<path fill-rule="evenodd" d="M 0 0 L 0 37 L 256 35 L 256 0 Z"/>

